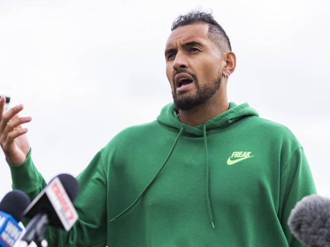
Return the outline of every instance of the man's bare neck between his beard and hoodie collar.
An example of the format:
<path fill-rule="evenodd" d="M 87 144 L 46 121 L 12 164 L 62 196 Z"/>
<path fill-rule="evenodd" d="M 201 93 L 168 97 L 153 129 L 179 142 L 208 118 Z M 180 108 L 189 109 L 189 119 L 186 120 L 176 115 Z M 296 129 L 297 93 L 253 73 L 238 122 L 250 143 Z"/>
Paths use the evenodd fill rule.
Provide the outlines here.
<path fill-rule="evenodd" d="M 204 104 L 196 106 L 190 110 L 179 109 L 178 118 L 186 125 L 197 126 L 216 117 L 228 109 L 229 104 L 227 100 L 217 103 L 205 102 Z"/>

